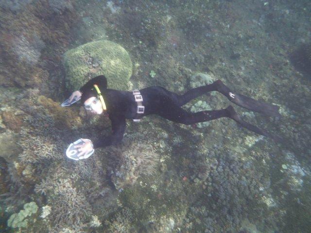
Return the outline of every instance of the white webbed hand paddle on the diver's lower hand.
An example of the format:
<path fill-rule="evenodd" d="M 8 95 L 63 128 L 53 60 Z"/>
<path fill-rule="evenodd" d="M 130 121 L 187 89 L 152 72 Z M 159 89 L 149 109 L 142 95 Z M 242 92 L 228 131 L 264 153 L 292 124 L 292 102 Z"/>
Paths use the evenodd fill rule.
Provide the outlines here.
<path fill-rule="evenodd" d="M 90 142 L 90 143 L 89 143 Z M 90 144 L 89 146 L 87 144 Z M 85 148 L 89 147 L 89 148 Z M 80 160 L 87 159 L 94 153 L 94 148 L 92 141 L 89 139 L 78 139 L 77 141 L 71 143 L 66 150 L 66 156 L 69 159 Z"/>

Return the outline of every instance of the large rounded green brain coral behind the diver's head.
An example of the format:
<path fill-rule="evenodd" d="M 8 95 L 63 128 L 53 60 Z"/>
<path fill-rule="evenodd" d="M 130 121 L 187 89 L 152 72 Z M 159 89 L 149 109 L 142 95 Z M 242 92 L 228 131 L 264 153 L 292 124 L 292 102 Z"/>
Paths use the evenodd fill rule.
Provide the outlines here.
<path fill-rule="evenodd" d="M 64 54 L 66 87 L 78 90 L 89 79 L 104 74 L 108 88 L 126 89 L 132 75 L 132 61 L 120 45 L 99 40 L 86 43 Z"/>

